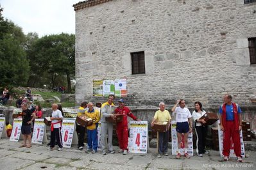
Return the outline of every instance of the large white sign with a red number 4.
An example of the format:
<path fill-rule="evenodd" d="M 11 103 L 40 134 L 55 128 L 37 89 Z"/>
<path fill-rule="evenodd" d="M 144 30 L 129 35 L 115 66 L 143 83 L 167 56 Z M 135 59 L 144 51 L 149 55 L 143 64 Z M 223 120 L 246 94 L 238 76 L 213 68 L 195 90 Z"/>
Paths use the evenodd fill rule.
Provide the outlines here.
<path fill-rule="evenodd" d="M 148 121 L 130 121 L 130 153 L 147 153 Z"/>

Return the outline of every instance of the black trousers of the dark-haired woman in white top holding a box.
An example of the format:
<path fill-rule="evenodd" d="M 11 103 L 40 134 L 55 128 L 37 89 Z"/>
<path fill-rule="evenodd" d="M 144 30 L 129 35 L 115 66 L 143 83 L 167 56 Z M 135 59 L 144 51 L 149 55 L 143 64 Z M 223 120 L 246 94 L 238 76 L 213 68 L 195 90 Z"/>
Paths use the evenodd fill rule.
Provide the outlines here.
<path fill-rule="evenodd" d="M 207 126 L 196 126 L 196 152 L 198 154 L 205 153 L 205 139 L 207 135 Z"/>

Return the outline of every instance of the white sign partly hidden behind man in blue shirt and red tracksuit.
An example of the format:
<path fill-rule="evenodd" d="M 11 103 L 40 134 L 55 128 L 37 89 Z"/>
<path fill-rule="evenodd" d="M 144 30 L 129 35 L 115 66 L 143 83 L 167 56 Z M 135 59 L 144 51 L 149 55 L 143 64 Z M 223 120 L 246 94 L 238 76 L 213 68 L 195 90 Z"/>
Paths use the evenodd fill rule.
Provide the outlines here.
<path fill-rule="evenodd" d="M 224 157 L 222 154 L 223 151 L 223 131 L 221 130 L 221 125 L 218 120 L 218 134 L 219 134 L 219 153 L 221 157 Z M 245 152 L 244 152 L 244 141 L 243 141 L 243 132 L 240 130 L 240 143 L 241 143 L 241 156 L 244 158 L 245 157 Z M 234 143 L 231 139 L 230 143 L 230 157 L 236 157 L 235 156 L 235 151 L 234 151 Z"/>

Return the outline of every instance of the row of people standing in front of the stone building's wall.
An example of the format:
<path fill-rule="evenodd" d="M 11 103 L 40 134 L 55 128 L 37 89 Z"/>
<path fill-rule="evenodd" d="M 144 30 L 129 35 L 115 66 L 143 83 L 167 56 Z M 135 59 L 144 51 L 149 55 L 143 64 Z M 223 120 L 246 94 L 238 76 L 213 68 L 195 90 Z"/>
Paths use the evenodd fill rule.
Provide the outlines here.
<path fill-rule="evenodd" d="M 117 114 L 123 115 L 123 121 L 117 123 L 117 138 L 119 142 L 119 153 L 126 155 L 128 153 L 128 116 L 135 121 L 141 121 L 132 114 L 129 107 L 124 104 L 124 100 L 118 100 L 118 107 L 114 105 L 114 95 L 109 95 L 107 102 L 101 105 L 101 112 L 94 109 L 92 102 L 82 102 L 78 110 L 78 116 L 86 116 L 92 119 L 92 125 L 87 128 L 77 125 L 76 132 L 78 133 L 78 149 L 83 150 L 85 130 L 87 130 L 87 151 L 92 153 L 97 152 L 98 148 L 98 123 L 101 123 L 101 148 L 102 154 L 115 153 L 112 144 L 113 135 L 113 123 L 107 121 L 106 118 L 116 118 Z M 219 107 L 219 119 L 221 122 L 221 130 L 224 132 L 223 141 L 223 155 L 224 160 L 228 161 L 230 155 L 230 140 L 234 141 L 234 151 L 237 156 L 237 162 L 243 162 L 241 156 L 241 143 L 239 138 L 239 130 L 241 130 L 242 116 L 239 105 L 232 102 L 231 95 L 224 96 L 224 104 Z M 190 158 L 187 153 L 188 144 L 187 139 L 190 132 L 192 132 L 192 120 L 195 123 L 196 131 L 196 153 L 199 157 L 203 157 L 203 154 L 209 154 L 209 151 L 205 150 L 205 137 L 207 133 L 207 125 L 205 120 L 201 120 L 201 116 L 205 114 L 202 109 L 201 102 L 194 103 L 195 110 L 192 112 L 185 107 L 185 100 L 180 99 L 176 101 L 171 111 L 176 116 L 176 135 L 178 138 L 178 153 L 176 158 L 181 157 L 181 140 L 183 134 L 183 140 L 185 144 L 185 158 Z M 31 123 L 35 118 L 42 118 L 42 111 L 40 106 L 35 107 L 35 111 L 32 113 L 28 109 L 26 104 L 22 104 L 22 128 L 21 132 L 24 137 L 24 144 L 21 147 L 31 147 Z M 55 149 L 55 145 L 58 144 L 58 150 L 63 148 L 62 135 L 61 135 L 61 123 L 63 120 L 63 111 L 61 105 L 53 104 L 51 114 L 51 142 L 50 150 Z M 155 122 L 167 121 L 168 130 L 166 132 L 159 132 L 158 137 L 158 157 L 162 155 L 167 156 L 167 143 L 169 140 L 169 127 L 171 125 L 171 114 L 165 109 L 164 102 L 160 102 L 159 110 L 155 112 L 155 116 L 151 122 L 151 126 L 155 125 Z"/>

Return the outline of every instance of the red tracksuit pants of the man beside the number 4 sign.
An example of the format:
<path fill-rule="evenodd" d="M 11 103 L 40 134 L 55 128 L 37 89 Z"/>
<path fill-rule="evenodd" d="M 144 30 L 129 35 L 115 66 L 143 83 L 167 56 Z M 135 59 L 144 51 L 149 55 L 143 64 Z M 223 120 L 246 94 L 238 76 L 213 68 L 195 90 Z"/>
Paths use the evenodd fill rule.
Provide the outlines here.
<path fill-rule="evenodd" d="M 119 148 L 121 150 L 128 150 L 128 127 L 117 126 L 116 132 L 117 132 Z"/>

